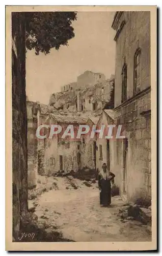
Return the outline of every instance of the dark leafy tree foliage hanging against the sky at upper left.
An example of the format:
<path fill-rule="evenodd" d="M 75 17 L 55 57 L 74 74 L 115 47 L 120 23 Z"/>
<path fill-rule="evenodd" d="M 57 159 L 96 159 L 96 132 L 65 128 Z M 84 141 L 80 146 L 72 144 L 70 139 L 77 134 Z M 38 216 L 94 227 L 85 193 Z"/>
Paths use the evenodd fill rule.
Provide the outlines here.
<path fill-rule="evenodd" d="M 76 12 L 25 12 L 26 48 L 46 55 L 51 48 L 68 46 L 68 40 L 75 36 L 74 20 Z"/>

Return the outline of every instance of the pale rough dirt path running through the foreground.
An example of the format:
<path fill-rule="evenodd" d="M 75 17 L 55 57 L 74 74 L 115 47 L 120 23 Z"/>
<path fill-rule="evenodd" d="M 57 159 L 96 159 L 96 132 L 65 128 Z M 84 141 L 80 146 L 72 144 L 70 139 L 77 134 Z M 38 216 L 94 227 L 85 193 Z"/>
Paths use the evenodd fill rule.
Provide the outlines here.
<path fill-rule="evenodd" d="M 151 241 L 146 226 L 137 221 L 121 222 L 117 216 L 123 202 L 112 198 L 109 208 L 100 207 L 97 184 L 57 178 L 58 189 L 39 197 L 36 214 L 77 242 Z M 74 185 L 73 185 L 74 184 Z M 77 187 L 77 189 L 76 189 Z"/>

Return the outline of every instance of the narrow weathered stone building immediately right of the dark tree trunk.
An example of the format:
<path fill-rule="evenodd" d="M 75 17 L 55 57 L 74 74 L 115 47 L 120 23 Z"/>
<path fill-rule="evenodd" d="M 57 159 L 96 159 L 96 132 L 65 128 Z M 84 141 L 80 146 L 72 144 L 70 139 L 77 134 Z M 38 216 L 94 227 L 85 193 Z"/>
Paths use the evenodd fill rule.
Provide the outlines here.
<path fill-rule="evenodd" d="M 37 186 L 38 174 L 45 170 L 44 141 L 36 136 L 37 127 L 46 122 L 49 108 L 38 101 L 26 101 L 28 117 L 28 188 Z"/>

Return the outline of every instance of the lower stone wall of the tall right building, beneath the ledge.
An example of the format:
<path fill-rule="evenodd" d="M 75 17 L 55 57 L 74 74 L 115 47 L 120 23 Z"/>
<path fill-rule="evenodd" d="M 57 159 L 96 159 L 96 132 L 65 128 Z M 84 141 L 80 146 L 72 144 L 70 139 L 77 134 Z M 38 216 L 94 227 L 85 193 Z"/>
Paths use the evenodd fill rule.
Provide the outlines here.
<path fill-rule="evenodd" d="M 151 197 L 151 95 L 150 89 L 115 110 L 128 140 L 126 189 L 128 200 Z M 113 172 L 123 190 L 123 142 L 114 142 Z"/>

